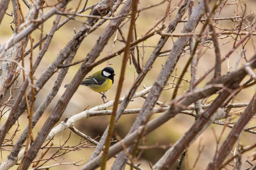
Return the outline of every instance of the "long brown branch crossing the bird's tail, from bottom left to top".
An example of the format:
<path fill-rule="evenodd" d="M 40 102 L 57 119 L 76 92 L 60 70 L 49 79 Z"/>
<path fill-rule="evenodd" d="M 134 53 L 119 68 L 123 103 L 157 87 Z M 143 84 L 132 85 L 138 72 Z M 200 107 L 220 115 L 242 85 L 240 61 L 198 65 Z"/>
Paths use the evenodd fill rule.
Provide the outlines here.
<path fill-rule="evenodd" d="M 100 1 L 100 3 L 104 4 L 105 2 Z M 119 11 L 119 13 L 127 13 L 129 11 L 129 6 L 131 5 L 131 1 L 126 2 L 124 7 Z M 105 10 L 107 10 L 104 7 Z M 92 12 L 97 12 L 99 9 L 93 9 Z M 90 18 L 92 19 L 92 18 Z M 85 75 L 92 70 L 91 67 L 89 67 L 88 63 L 93 63 L 96 58 L 100 55 L 100 52 L 103 50 L 105 45 L 107 44 L 109 38 L 111 35 L 115 32 L 116 27 L 125 19 L 123 18 L 117 18 L 115 20 L 111 20 L 109 22 L 110 27 L 107 27 L 105 31 L 101 34 L 99 37 L 97 43 L 92 48 L 90 53 L 87 55 L 86 59 L 82 63 L 81 67 L 76 73 L 76 76 L 71 81 L 70 85 L 68 86 L 67 90 L 64 92 L 64 94 L 61 96 L 60 100 L 57 102 L 55 108 L 52 111 L 52 114 L 49 116 L 49 118 L 44 123 L 42 129 L 38 132 L 38 135 L 31 145 L 30 149 L 28 150 L 27 157 L 24 158 L 24 166 L 22 167 L 22 170 L 27 169 L 27 167 L 30 165 L 32 160 L 36 157 L 36 154 L 39 150 L 39 147 L 44 143 L 45 138 L 48 136 L 48 133 L 52 129 L 52 127 L 60 120 L 60 117 L 62 113 L 64 112 L 65 108 L 67 107 L 67 104 L 69 100 L 71 99 L 72 95 L 75 93 L 76 89 L 78 88 L 79 84 L 85 77 Z M 114 25 L 114 26 L 113 26 Z"/>

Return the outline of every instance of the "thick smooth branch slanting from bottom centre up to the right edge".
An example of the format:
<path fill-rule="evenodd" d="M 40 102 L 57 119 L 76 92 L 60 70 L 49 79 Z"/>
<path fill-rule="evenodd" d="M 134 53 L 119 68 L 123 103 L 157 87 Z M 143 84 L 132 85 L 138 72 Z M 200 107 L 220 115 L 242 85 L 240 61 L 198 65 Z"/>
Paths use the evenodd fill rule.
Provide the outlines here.
<path fill-rule="evenodd" d="M 255 58 L 255 56 L 254 56 Z M 249 63 L 246 63 L 248 65 L 250 65 L 252 68 L 256 67 L 256 61 L 255 59 Z M 215 80 L 215 82 L 221 82 L 224 85 L 228 85 L 228 84 L 232 84 L 236 81 L 241 80 L 244 76 L 246 75 L 245 71 L 244 71 L 244 66 L 236 71 L 230 72 L 228 75 L 225 75 L 221 78 L 218 78 L 217 80 Z M 210 84 L 211 82 L 209 82 Z M 123 150 L 123 144 L 128 147 L 131 144 L 134 143 L 134 140 L 137 139 L 137 137 L 141 134 L 142 129 L 145 128 L 145 133 L 144 135 L 147 135 L 149 132 L 155 130 L 157 127 L 159 127 L 160 125 L 162 125 L 164 122 L 168 121 L 169 119 L 171 119 L 172 117 L 174 117 L 177 113 L 179 113 L 181 110 L 183 110 L 182 107 L 179 106 L 188 106 L 189 104 L 195 102 L 198 99 L 204 98 L 209 96 L 210 94 L 218 91 L 219 88 L 216 87 L 211 87 L 211 88 L 207 88 L 205 89 L 203 92 L 198 92 L 196 94 L 193 94 L 191 96 L 187 96 L 186 99 L 181 100 L 180 102 L 177 103 L 177 106 L 172 107 L 171 109 L 169 109 L 167 112 L 164 112 L 163 114 L 161 114 L 160 116 L 156 117 L 155 119 L 151 120 L 150 122 L 148 122 L 146 124 L 146 127 L 144 126 L 140 126 L 139 128 L 137 128 L 136 131 L 132 132 L 130 135 L 127 135 L 124 139 L 122 139 L 120 142 L 114 144 L 113 146 L 110 147 L 109 149 L 109 155 L 108 158 L 110 158 L 111 156 L 113 156 L 114 154 L 120 152 Z M 213 105 L 212 105 L 213 106 Z M 202 115 L 203 116 L 203 115 Z M 201 116 L 200 116 L 201 117 Z M 199 118 L 197 120 L 200 120 Z M 206 119 L 207 121 L 207 119 Z M 196 124 L 194 124 L 196 125 Z M 198 131 L 200 131 L 201 127 L 198 127 Z M 191 130 L 191 129 L 190 129 Z M 194 132 L 195 133 L 195 132 Z M 187 137 L 190 136 L 189 133 L 186 133 L 187 135 L 183 135 L 183 137 Z M 179 140 L 180 141 L 180 140 Z M 185 142 L 185 146 L 189 144 L 189 142 Z M 180 151 L 182 150 L 182 148 L 180 148 Z M 181 151 L 183 152 L 183 150 Z M 177 157 L 180 154 L 177 154 L 178 152 L 171 152 L 172 154 L 175 154 Z M 95 157 L 94 159 L 92 159 L 91 161 L 87 162 L 87 164 L 82 168 L 83 170 L 85 169 L 93 169 L 96 168 L 98 166 L 100 166 L 100 162 L 101 162 L 101 158 L 102 158 L 102 154 L 100 154 L 99 156 Z M 173 161 L 176 161 L 176 159 Z"/>

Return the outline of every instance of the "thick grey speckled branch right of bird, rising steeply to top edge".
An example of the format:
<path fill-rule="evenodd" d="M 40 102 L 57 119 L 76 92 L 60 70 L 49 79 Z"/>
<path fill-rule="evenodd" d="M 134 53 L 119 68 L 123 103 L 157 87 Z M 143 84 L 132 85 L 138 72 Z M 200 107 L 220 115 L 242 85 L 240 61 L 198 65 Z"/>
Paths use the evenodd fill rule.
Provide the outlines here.
<path fill-rule="evenodd" d="M 184 26 L 182 32 L 188 33 L 193 31 L 201 16 L 204 13 L 204 6 L 202 1 L 199 1 L 195 10 L 191 14 L 189 21 Z M 135 131 L 139 126 L 144 125 L 146 122 L 148 122 L 149 117 L 151 116 L 151 110 L 153 109 L 160 93 L 162 92 L 167 80 L 169 79 L 172 71 L 175 68 L 176 63 L 178 62 L 180 58 L 180 54 L 182 53 L 183 49 L 186 47 L 187 42 L 189 41 L 190 37 L 180 37 L 177 41 L 174 42 L 172 51 L 168 58 L 166 59 L 164 66 L 162 67 L 162 70 L 158 74 L 156 81 L 153 84 L 153 87 L 148 94 L 148 97 L 146 101 L 144 102 L 143 106 L 141 107 L 141 111 L 138 114 L 136 120 L 134 121 L 131 129 L 129 130 L 129 134 L 131 134 L 133 131 Z M 128 151 L 131 152 L 132 148 L 129 148 Z M 112 168 L 121 169 L 124 166 L 124 162 L 126 161 L 126 153 L 123 151 L 120 153 L 115 160 L 114 165 Z M 125 161 L 124 161 L 125 160 Z M 117 163 L 118 162 L 118 163 Z"/>

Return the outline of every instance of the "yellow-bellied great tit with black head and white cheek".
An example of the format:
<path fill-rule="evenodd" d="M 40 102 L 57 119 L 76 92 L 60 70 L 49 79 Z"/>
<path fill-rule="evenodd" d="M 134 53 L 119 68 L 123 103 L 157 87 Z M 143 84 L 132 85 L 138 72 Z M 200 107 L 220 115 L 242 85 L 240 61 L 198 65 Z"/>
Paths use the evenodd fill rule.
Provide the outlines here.
<path fill-rule="evenodd" d="M 99 92 L 104 97 L 106 97 L 103 93 L 107 91 L 111 85 L 114 83 L 114 69 L 112 67 L 105 67 L 103 70 L 97 71 L 93 73 L 91 76 L 85 78 L 80 85 L 88 86 L 95 92 Z M 64 87 L 68 87 L 65 85 Z"/>

